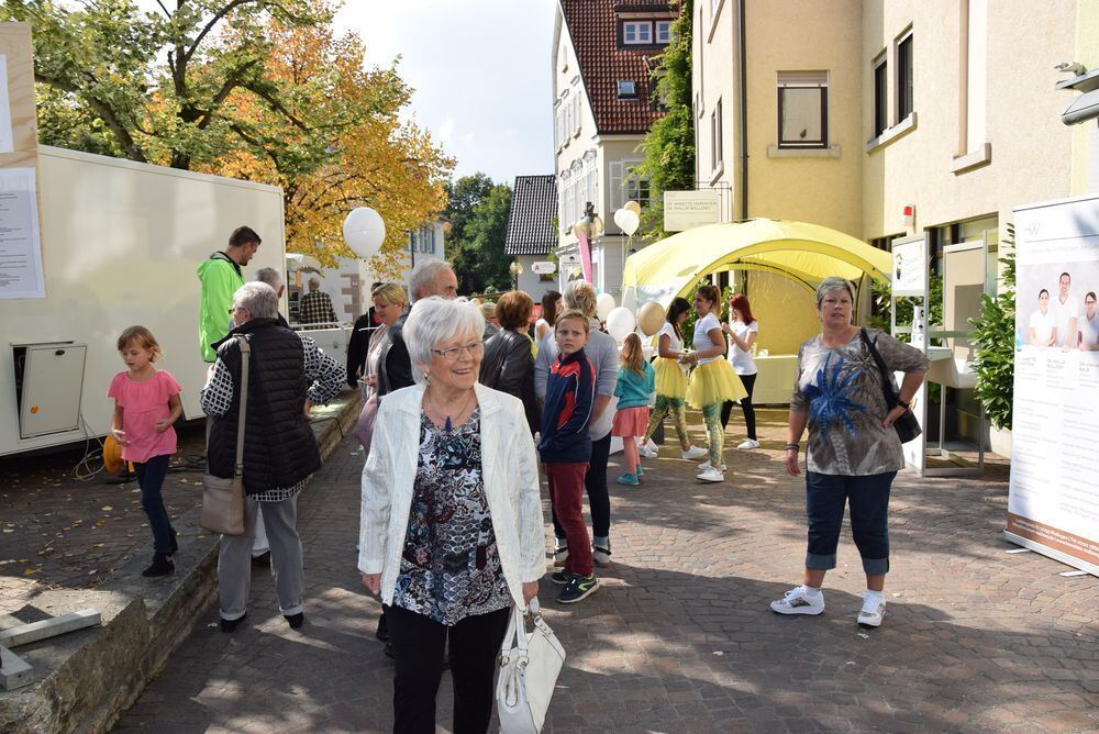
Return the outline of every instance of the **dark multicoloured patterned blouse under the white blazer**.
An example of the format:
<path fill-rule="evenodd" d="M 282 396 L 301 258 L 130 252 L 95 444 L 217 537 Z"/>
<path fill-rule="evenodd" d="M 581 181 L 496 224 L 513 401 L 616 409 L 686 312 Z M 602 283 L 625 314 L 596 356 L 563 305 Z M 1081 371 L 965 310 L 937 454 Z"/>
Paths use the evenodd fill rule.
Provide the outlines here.
<path fill-rule="evenodd" d="M 452 431 L 421 414 L 393 604 L 447 626 L 511 605 L 481 477 L 479 408 Z"/>

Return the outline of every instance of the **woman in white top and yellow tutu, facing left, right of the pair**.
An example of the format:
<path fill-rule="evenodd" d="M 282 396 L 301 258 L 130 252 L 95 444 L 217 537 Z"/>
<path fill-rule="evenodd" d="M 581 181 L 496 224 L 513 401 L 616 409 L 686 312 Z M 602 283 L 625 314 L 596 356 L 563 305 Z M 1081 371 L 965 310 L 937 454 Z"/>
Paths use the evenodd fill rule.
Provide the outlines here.
<path fill-rule="evenodd" d="M 725 336 L 721 322 L 713 313 L 721 301 L 717 286 L 702 286 L 695 296 L 693 349 L 684 355 L 689 365 L 696 365 L 687 385 L 687 404 L 702 411 L 707 437 L 710 440 L 710 459 L 699 467 L 698 478 L 702 481 L 724 481 L 725 464 L 721 449 L 725 443 L 725 432 L 721 427 L 721 407 L 726 400 L 740 400 L 747 390 L 736 376 L 725 356 Z"/>

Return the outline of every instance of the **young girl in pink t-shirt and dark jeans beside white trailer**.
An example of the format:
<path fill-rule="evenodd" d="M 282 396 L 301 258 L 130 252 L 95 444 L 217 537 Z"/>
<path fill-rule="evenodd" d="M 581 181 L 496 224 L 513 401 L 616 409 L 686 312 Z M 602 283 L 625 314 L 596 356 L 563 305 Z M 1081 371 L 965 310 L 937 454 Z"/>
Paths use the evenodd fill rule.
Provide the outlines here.
<path fill-rule="evenodd" d="M 176 453 L 176 431 L 171 424 L 184 412 L 179 383 L 166 370 L 153 366 L 160 346 L 144 326 L 122 332 L 119 354 L 129 368 L 111 380 L 108 398 L 114 398 L 111 435 L 122 446 L 122 458 L 132 461 L 141 486 L 141 505 L 153 531 L 153 564 L 142 576 L 166 576 L 176 570 L 170 556 L 179 547 L 176 531 L 160 498 L 168 474 L 168 459 Z"/>

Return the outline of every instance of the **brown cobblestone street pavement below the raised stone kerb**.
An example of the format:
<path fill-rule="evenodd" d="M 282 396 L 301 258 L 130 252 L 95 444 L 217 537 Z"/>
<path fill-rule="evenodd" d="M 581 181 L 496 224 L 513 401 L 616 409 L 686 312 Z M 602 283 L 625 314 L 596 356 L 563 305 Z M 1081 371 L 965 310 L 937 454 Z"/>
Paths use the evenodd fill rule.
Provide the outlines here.
<path fill-rule="evenodd" d="M 640 489 L 613 486 L 603 588 L 574 608 L 545 604 L 568 653 L 546 731 L 1099 729 L 1099 582 L 1007 553 L 1002 464 L 998 479 L 898 477 L 880 629 L 855 624 L 863 578 L 847 531 L 828 611 L 771 613 L 800 574 L 803 485 L 781 472 L 784 414 L 761 418 L 762 449 L 729 451 L 725 483 L 697 483 L 666 448 Z M 345 443 L 302 498 L 302 630 L 287 627 L 257 568 L 248 621 L 224 635 L 211 609 L 119 731 L 391 729 L 379 607 L 355 571 L 362 460 Z M 442 731 L 449 716 L 444 676 Z"/>

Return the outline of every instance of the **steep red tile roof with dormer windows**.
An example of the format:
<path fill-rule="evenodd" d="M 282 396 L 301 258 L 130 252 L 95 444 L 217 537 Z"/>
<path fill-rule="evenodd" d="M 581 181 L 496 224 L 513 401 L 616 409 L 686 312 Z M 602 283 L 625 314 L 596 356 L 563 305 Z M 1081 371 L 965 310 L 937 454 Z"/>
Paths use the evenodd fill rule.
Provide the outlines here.
<path fill-rule="evenodd" d="M 576 58 L 580 65 L 588 101 L 596 115 L 596 130 L 600 133 L 646 133 L 664 115 L 654 111 L 650 102 L 650 64 L 662 46 L 619 48 L 619 12 L 653 12 L 654 18 L 666 18 L 671 12 L 668 0 L 560 0 L 568 33 L 573 38 Z M 618 99 L 618 82 L 634 81 L 636 99 Z"/>

